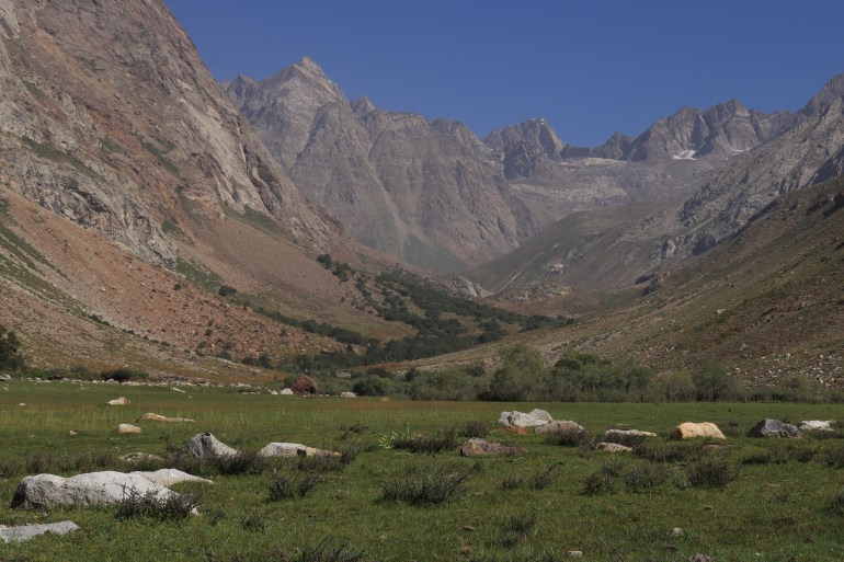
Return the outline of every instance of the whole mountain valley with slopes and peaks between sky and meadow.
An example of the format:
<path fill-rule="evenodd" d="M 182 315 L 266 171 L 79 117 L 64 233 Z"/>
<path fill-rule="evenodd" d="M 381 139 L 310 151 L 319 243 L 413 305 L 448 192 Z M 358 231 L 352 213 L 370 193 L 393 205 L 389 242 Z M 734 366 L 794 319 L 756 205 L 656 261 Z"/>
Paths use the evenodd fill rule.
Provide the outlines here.
<path fill-rule="evenodd" d="M 162 0 L 0 0 L 0 325 L 46 372 L 490 371 L 525 342 L 844 389 L 844 74 L 585 148 L 350 101 L 308 57 L 218 83 Z"/>

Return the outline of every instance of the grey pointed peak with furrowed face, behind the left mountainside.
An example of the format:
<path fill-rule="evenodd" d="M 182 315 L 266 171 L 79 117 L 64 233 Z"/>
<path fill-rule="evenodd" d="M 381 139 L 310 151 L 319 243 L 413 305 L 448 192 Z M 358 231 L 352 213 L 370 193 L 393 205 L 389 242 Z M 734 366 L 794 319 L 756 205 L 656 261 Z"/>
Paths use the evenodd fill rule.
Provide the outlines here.
<path fill-rule="evenodd" d="M 452 272 L 538 232 L 460 124 L 350 103 L 309 58 L 225 85 L 299 190 L 372 248 Z"/>

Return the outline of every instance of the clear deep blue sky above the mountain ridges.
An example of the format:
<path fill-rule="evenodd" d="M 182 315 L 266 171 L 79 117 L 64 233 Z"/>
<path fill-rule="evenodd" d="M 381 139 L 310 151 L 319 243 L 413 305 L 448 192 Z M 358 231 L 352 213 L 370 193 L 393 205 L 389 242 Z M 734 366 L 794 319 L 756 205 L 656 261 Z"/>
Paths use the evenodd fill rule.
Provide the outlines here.
<path fill-rule="evenodd" d="M 801 107 L 844 72 L 844 0 L 166 0 L 220 80 L 310 56 L 349 99 L 477 134 L 636 136 L 682 106 Z"/>

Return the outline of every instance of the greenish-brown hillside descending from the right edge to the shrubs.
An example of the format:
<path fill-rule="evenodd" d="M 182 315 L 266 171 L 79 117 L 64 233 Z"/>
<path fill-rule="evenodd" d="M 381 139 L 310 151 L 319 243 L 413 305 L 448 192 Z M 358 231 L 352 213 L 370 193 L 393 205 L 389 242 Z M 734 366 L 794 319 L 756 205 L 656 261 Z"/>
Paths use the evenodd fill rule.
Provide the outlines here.
<path fill-rule="evenodd" d="M 614 305 L 598 313 L 521 340 L 539 347 L 548 362 L 577 349 L 668 374 L 715 359 L 751 386 L 782 386 L 797 377 L 796 383 L 840 392 L 843 233 L 840 176 L 784 195 L 723 244 L 668 264 L 660 286 L 648 279 L 616 294 Z M 510 343 L 426 363 L 493 360 Z"/>

